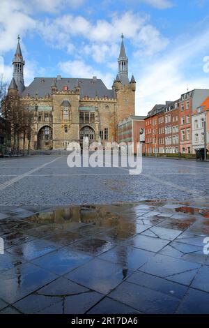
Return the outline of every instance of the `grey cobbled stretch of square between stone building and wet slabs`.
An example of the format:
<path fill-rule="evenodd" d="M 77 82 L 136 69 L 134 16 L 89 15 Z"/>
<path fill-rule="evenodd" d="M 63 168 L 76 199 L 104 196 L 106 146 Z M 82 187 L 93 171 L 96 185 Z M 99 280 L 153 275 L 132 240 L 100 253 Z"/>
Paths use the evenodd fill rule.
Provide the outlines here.
<path fill-rule="evenodd" d="M 209 195 L 208 173 L 208 163 L 164 158 L 143 158 L 139 175 L 120 167 L 69 168 L 67 156 L 0 158 L 0 207 L 202 200 Z"/>

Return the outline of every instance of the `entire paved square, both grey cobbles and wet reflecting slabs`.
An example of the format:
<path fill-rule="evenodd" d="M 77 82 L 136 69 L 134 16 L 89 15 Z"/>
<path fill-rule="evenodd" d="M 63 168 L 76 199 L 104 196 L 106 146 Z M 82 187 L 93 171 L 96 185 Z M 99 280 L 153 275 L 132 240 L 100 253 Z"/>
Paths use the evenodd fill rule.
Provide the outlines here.
<path fill-rule="evenodd" d="M 0 314 L 209 313 L 208 170 L 0 159 Z"/>

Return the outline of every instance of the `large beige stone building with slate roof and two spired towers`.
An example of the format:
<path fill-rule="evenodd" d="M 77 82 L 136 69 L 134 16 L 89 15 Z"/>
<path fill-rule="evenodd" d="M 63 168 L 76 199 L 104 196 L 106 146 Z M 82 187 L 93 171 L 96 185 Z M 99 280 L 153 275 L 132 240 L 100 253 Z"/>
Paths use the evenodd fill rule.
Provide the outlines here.
<path fill-rule="evenodd" d="M 31 149 L 66 149 L 70 142 L 118 140 L 118 122 L 134 115 L 134 76 L 128 78 L 128 59 L 123 35 L 118 74 L 112 89 L 102 80 L 72 77 L 35 77 L 24 86 L 24 59 L 18 37 L 13 59 L 13 79 L 8 94 L 18 94 L 33 113 Z"/>

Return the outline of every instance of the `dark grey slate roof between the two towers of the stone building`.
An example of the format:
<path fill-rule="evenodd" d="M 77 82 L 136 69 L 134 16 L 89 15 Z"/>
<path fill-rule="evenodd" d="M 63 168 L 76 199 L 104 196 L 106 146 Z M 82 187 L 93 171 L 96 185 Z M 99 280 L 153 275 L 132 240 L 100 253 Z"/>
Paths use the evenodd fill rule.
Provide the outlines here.
<path fill-rule="evenodd" d="M 74 90 L 75 87 L 80 87 L 81 98 L 88 96 L 89 98 L 115 98 L 114 90 L 107 89 L 102 80 L 97 79 L 77 79 L 77 78 L 60 78 L 55 79 L 58 91 L 62 91 L 64 86 L 68 87 L 68 90 Z M 35 77 L 33 82 L 26 87 L 22 92 L 22 97 L 36 96 L 45 97 L 47 94 L 51 94 L 51 86 L 54 84 L 54 77 Z"/>

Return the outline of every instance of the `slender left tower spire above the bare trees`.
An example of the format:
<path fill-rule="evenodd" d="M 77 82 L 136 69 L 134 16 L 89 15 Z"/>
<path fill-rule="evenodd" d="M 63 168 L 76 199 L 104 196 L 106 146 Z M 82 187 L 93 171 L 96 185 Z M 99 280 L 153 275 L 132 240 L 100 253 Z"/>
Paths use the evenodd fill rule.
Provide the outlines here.
<path fill-rule="evenodd" d="M 17 38 L 17 50 L 15 52 L 15 57 L 13 59 L 13 77 L 15 79 L 15 83 L 17 85 L 17 89 L 19 91 L 19 94 L 22 94 L 22 91 L 24 91 L 24 60 L 22 57 L 22 51 L 20 47 L 20 36 Z"/>

